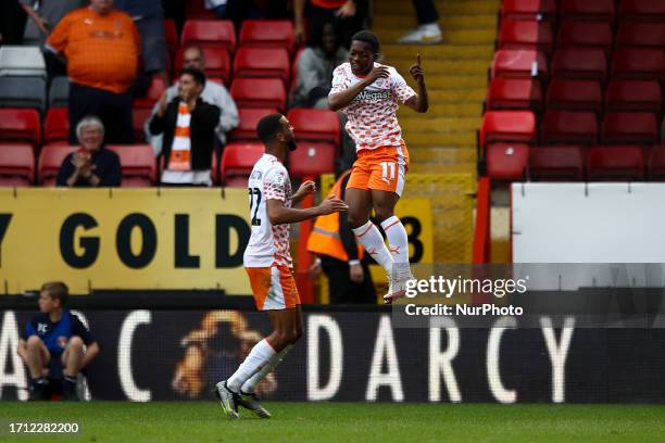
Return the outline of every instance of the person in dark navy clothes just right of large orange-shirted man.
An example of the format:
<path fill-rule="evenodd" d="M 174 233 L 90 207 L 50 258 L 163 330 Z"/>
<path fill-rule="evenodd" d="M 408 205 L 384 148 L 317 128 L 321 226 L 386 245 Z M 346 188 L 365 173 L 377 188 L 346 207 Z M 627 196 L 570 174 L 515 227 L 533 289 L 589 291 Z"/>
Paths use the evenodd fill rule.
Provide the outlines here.
<path fill-rule="evenodd" d="M 143 68 L 166 78 L 166 35 L 164 9 L 155 0 L 114 0 L 115 8 L 134 18 L 141 35 Z"/>

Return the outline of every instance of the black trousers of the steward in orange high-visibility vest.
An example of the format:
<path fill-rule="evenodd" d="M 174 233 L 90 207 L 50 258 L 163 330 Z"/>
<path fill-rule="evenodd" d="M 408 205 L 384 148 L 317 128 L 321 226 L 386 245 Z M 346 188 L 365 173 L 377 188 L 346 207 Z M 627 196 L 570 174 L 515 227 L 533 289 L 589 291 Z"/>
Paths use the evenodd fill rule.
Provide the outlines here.
<path fill-rule="evenodd" d="M 376 290 L 369 274 L 369 267 L 361 262 L 365 279 L 357 284 L 351 281 L 349 264 L 327 255 L 321 256 L 321 266 L 328 277 L 330 289 L 330 304 L 341 303 L 371 303 L 376 304 Z"/>

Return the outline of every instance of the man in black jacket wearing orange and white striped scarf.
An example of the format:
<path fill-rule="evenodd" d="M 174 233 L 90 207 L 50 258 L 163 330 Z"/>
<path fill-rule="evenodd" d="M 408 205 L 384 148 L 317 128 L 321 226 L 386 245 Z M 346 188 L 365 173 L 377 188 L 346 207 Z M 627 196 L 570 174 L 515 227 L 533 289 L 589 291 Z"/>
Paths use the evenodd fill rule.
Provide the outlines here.
<path fill-rule="evenodd" d="M 219 107 L 201 99 L 205 75 L 186 68 L 178 81 L 178 97 L 167 101 L 164 92 L 150 132 L 164 134 L 162 183 L 170 186 L 212 186 L 212 155 Z"/>

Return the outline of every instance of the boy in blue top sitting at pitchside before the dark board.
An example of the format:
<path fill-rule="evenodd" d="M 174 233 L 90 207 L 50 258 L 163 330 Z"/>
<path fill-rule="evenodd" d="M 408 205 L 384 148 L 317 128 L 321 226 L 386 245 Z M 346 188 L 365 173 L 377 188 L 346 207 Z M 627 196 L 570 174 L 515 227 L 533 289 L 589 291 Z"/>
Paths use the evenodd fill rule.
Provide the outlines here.
<path fill-rule="evenodd" d="M 61 391 L 60 383 L 65 400 L 79 400 L 76 377 L 99 354 L 88 328 L 65 308 L 67 298 L 65 283 L 45 283 L 39 294 L 40 313 L 26 325 L 18 341 L 18 355 L 30 372 L 30 400 L 50 400 Z"/>

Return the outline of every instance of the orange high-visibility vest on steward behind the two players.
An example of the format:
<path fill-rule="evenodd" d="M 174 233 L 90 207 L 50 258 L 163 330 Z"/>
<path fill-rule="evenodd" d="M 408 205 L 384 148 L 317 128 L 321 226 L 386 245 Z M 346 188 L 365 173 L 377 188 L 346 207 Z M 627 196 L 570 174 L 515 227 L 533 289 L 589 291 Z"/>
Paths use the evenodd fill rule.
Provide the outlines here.
<path fill-rule="evenodd" d="M 341 195 L 341 182 L 344 177 L 351 174 L 350 170 L 342 174 L 335 182 L 327 197 Z M 308 251 L 315 254 L 328 255 L 342 262 L 349 261 L 349 254 L 344 251 L 344 244 L 339 236 L 339 213 L 322 215 L 316 218 L 310 239 L 308 240 Z M 357 243 L 357 258 L 363 258 L 363 246 Z"/>

